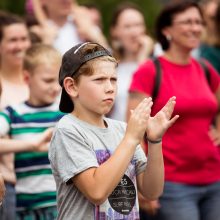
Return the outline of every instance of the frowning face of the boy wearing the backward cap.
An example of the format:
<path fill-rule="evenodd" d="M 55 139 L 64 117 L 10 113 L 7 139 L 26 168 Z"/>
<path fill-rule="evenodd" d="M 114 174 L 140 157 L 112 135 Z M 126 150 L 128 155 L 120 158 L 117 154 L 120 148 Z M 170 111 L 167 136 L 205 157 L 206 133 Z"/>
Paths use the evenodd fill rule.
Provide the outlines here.
<path fill-rule="evenodd" d="M 77 96 L 74 99 L 74 112 L 95 115 L 107 114 L 115 100 L 117 75 L 115 63 L 97 61 L 91 76 L 80 76 L 77 84 Z"/>

